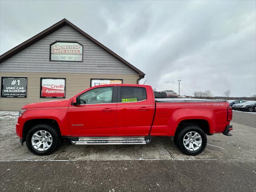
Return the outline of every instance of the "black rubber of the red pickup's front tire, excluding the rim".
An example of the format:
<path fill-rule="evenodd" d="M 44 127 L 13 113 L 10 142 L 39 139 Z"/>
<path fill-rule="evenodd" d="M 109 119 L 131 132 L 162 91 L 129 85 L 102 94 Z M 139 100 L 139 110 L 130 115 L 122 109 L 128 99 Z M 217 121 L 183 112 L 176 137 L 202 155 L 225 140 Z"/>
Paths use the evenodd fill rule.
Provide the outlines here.
<path fill-rule="evenodd" d="M 44 151 L 40 151 L 34 148 L 32 146 L 32 141 L 31 141 L 33 134 L 40 130 L 47 131 L 52 136 L 52 145 Z M 50 155 L 52 152 L 54 152 L 54 150 L 56 150 L 56 148 L 58 148 L 58 146 L 60 146 L 60 142 L 61 142 L 61 137 L 58 134 L 57 130 L 48 124 L 38 124 L 32 127 L 31 130 L 29 130 L 26 137 L 27 148 L 28 150 L 30 150 L 30 152 L 32 152 L 35 155 Z"/>

